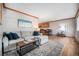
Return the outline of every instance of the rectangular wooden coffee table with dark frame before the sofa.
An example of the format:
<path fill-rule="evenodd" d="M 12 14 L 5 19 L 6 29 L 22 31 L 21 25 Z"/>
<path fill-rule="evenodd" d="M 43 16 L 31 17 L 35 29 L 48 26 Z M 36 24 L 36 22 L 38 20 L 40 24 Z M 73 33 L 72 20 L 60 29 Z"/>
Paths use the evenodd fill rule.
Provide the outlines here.
<path fill-rule="evenodd" d="M 17 53 L 20 56 L 26 54 L 27 52 L 29 52 L 29 51 L 33 50 L 34 48 L 36 48 L 35 43 L 36 43 L 35 40 L 17 42 L 16 43 Z"/>

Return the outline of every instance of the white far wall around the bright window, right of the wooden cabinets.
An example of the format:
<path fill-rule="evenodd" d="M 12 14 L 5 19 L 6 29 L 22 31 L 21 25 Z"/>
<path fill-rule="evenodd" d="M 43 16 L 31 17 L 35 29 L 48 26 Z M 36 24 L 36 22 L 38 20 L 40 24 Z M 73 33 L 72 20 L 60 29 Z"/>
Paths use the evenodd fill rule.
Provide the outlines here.
<path fill-rule="evenodd" d="M 50 28 L 52 29 L 52 34 L 56 35 L 60 32 L 60 24 L 65 24 L 65 35 L 73 37 L 75 35 L 75 20 L 61 20 L 56 22 L 50 22 Z"/>

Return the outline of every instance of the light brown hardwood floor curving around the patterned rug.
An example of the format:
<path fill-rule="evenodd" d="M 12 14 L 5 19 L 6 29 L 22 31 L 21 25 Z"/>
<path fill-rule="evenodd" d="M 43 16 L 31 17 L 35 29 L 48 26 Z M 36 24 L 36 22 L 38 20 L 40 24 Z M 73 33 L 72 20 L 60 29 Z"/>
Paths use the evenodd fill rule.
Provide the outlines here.
<path fill-rule="evenodd" d="M 61 51 L 62 56 L 78 56 L 79 55 L 79 43 L 77 43 L 74 38 L 49 36 L 49 39 L 61 41 L 64 44 L 64 47 Z"/>

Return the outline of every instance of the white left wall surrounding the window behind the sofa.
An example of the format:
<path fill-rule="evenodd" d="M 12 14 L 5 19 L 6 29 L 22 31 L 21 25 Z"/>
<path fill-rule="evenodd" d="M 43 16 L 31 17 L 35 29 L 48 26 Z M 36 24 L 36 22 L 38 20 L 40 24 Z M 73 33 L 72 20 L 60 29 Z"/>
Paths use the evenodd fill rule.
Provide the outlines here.
<path fill-rule="evenodd" d="M 3 12 L 4 12 L 3 13 L 3 15 L 4 15 L 4 17 L 3 17 L 3 27 L 4 27 L 3 31 L 19 31 L 19 27 L 18 27 L 18 24 L 17 24 L 18 19 L 24 19 L 24 20 L 32 21 L 33 26 L 38 27 L 37 26 L 37 24 L 38 24 L 37 19 L 34 19 L 34 18 L 29 17 L 29 16 L 20 14 L 20 13 L 15 12 L 15 11 L 7 10 L 7 9 L 4 9 Z M 33 30 L 35 30 L 34 27 L 22 28 L 22 30 L 23 31 L 33 31 Z"/>

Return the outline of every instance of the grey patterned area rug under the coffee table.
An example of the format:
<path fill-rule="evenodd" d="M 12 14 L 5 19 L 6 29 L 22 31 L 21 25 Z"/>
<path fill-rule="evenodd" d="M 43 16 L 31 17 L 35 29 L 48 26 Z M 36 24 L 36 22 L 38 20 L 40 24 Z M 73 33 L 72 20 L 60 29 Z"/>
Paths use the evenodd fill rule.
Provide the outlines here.
<path fill-rule="evenodd" d="M 63 43 L 60 41 L 49 41 L 46 44 L 41 45 L 24 56 L 59 56 L 63 48 Z M 12 50 L 5 54 L 5 56 L 18 56 L 16 50 Z"/>

